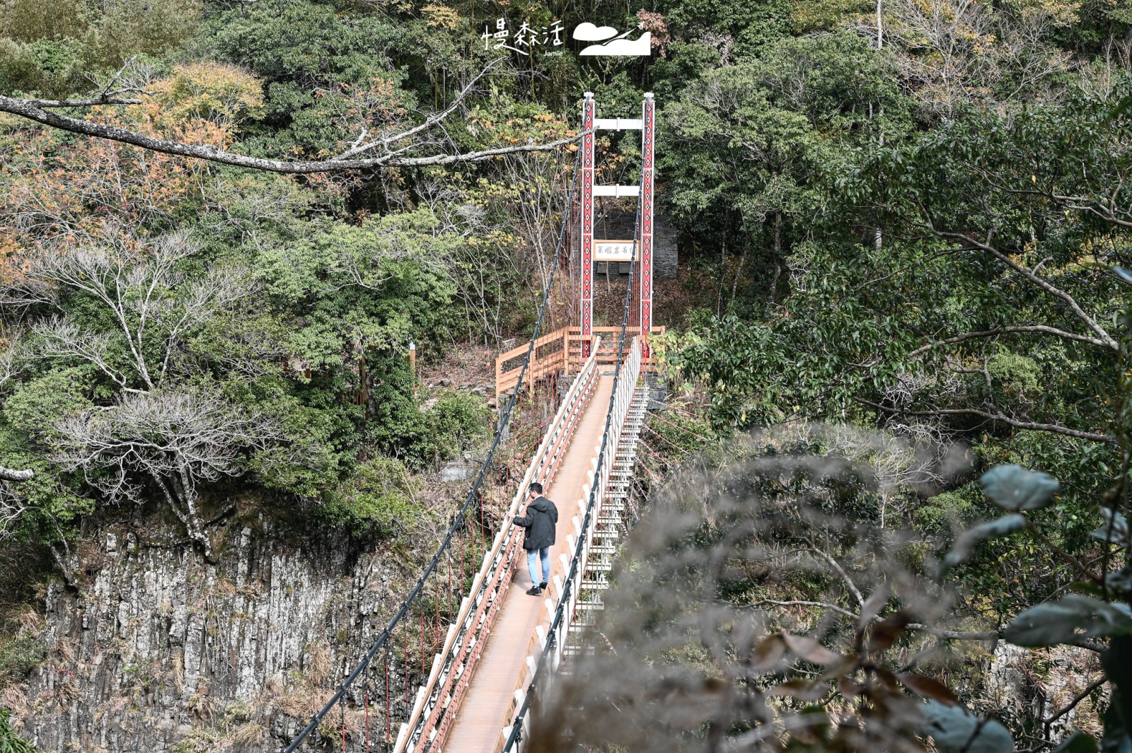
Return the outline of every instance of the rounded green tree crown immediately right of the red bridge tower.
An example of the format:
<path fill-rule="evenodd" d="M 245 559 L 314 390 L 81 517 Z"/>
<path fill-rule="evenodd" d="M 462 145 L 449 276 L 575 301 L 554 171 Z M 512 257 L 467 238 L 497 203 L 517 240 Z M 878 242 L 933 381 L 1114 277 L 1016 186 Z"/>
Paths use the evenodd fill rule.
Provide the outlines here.
<path fill-rule="evenodd" d="M 732 297 L 752 251 L 769 293 L 779 287 L 783 256 L 817 202 L 822 165 L 909 127 L 890 68 L 860 37 L 786 38 L 765 53 L 703 73 L 663 109 L 664 206 L 694 248 L 739 257 Z M 721 276 L 720 301 L 723 289 Z"/>

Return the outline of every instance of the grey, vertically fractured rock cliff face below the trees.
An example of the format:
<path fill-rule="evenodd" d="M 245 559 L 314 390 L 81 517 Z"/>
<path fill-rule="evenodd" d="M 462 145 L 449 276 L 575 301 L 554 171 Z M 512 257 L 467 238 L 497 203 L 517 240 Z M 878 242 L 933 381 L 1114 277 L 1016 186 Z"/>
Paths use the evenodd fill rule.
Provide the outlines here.
<path fill-rule="evenodd" d="M 78 591 L 48 590 L 48 658 L 3 696 L 41 751 L 275 750 L 352 668 L 412 570 L 261 519 L 220 533 L 216 564 L 172 531 L 147 535 L 87 537 Z"/>

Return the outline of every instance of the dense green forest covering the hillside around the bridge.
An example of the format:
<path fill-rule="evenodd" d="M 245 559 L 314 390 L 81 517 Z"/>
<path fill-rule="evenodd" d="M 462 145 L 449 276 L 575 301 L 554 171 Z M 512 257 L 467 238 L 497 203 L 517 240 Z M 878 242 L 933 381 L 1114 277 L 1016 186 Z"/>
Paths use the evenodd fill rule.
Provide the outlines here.
<path fill-rule="evenodd" d="M 652 55 L 578 57 L 551 29 L 582 21 L 648 31 Z M 498 44 L 523 25 L 540 32 Z M 17 719 L 0 710 L 0 750 L 23 750 L 18 720 L 43 707 L 19 689 L 59 661 L 38 605 L 57 581 L 83 592 L 104 523 L 160 523 L 206 563 L 230 518 L 353 551 L 435 538 L 452 500 L 429 502 L 430 479 L 482 453 L 497 406 L 471 381 L 422 383 L 409 345 L 443 375 L 531 335 L 586 90 L 599 118 L 654 93 L 679 236 L 658 293 L 671 409 L 642 497 L 697 511 L 670 533 L 703 556 L 740 529 L 812 552 L 719 575 L 713 598 L 772 635 L 875 654 L 822 669 L 813 649 L 798 672 L 890 737 L 834 725 L 749 750 L 1132 751 L 1126 0 L 0 0 L 0 466 L 33 471 L 0 492 L 0 709 Z M 634 182 L 636 138 L 601 132 L 602 182 Z M 351 159 L 369 162 L 327 167 Z M 736 510 L 745 495 L 758 504 Z M 650 578 L 685 577 L 642 552 L 654 569 L 626 577 L 627 613 L 662 590 Z M 878 583 L 897 595 L 866 603 Z M 950 628 L 920 640 L 889 617 L 866 651 L 884 604 Z M 617 630 L 632 643 L 655 620 Z M 657 640 L 619 660 L 756 682 Z M 914 667 L 928 680 L 909 691 L 980 715 L 931 707 L 969 730 L 958 743 L 925 742 L 894 700 Z M 782 708 L 821 698 L 799 689 Z M 592 729 L 617 750 L 740 750 L 719 737 L 751 729 L 740 706 L 663 741 L 640 719 Z M 214 711 L 195 718 L 224 728 Z M 200 745 L 182 750 L 216 750 Z"/>

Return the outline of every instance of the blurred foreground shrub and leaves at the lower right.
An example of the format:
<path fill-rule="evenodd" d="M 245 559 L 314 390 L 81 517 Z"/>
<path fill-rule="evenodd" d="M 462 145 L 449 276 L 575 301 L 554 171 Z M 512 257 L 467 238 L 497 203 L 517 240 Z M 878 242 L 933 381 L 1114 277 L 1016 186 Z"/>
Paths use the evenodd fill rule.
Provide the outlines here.
<path fill-rule="evenodd" d="M 876 526 L 878 477 L 868 462 L 823 453 L 815 440 L 829 431 L 754 435 L 685 464 L 659 492 L 611 577 L 595 655 L 544 703 L 532 730 L 547 735 L 540 750 L 919 752 L 929 737 L 940 753 L 1009 753 L 1004 720 L 966 708 L 978 699 L 949 680 L 985 656 L 966 647 L 1000 640 L 1100 656 L 1103 674 L 1040 719 L 1045 742 L 1031 750 L 1054 748 L 1053 722 L 1106 683 L 1104 750 L 1122 750 L 1132 634 L 1123 516 L 1106 513 L 1094 537 L 1118 547 L 1108 554 L 1123 569 L 1106 577 L 1099 560 L 1062 552 L 1089 575 L 1078 586 L 1096 592 L 1055 596 L 998 630 L 994 615 L 971 613 L 978 594 L 916 554 L 941 542 Z M 1029 517 L 1050 508 L 1054 478 L 998 466 L 980 482 L 1010 525 L 961 534 L 945 572 L 979 542 L 1022 529 L 1048 540 L 1049 520 Z M 1058 750 L 1098 748 L 1080 733 Z"/>

